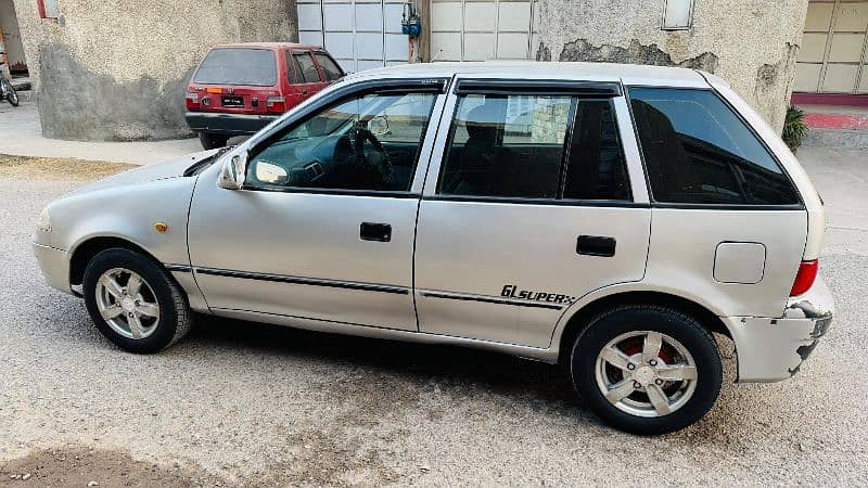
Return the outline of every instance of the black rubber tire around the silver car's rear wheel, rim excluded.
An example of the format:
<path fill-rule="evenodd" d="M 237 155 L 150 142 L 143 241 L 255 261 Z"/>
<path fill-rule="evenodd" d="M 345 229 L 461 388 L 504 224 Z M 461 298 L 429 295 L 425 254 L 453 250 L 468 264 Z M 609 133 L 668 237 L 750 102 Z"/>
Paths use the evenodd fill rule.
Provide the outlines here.
<path fill-rule="evenodd" d="M 656 331 L 679 342 L 695 362 L 695 390 L 672 413 L 643 418 L 620 410 L 597 385 L 597 357 L 615 337 L 634 331 Z M 692 317 L 652 305 L 622 306 L 593 318 L 576 338 L 570 375 L 578 396 L 607 424 L 630 434 L 660 435 L 680 431 L 702 419 L 720 393 L 723 363 L 711 333 Z"/>

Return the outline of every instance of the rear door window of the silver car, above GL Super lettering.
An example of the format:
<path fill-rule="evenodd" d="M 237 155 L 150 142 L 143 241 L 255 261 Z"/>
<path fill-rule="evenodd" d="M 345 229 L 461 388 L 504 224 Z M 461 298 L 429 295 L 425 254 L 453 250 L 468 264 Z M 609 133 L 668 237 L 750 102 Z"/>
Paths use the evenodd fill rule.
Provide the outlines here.
<path fill-rule="evenodd" d="M 442 195 L 628 200 L 612 101 L 462 95 L 438 184 Z"/>

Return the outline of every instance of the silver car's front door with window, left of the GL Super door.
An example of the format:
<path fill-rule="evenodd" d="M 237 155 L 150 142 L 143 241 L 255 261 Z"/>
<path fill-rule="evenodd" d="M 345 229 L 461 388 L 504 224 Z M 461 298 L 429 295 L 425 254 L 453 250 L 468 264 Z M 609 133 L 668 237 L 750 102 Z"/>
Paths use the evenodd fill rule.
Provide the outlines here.
<path fill-rule="evenodd" d="M 218 188 L 215 176 L 201 181 L 190 260 L 212 311 L 417 331 L 416 218 L 444 85 L 332 90 L 252 143 L 242 190 Z M 408 171 L 392 170 L 390 149 L 376 140 L 382 114 L 395 107 L 413 131 Z"/>

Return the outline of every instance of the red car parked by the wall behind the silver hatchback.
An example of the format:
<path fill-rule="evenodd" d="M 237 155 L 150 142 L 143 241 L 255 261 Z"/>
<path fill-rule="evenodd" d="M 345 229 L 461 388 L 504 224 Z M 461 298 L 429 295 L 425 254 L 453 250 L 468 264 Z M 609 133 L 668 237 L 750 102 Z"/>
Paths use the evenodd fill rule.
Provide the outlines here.
<path fill-rule="evenodd" d="M 187 87 L 187 124 L 205 149 L 257 132 L 344 76 L 317 46 L 251 42 L 212 48 Z"/>

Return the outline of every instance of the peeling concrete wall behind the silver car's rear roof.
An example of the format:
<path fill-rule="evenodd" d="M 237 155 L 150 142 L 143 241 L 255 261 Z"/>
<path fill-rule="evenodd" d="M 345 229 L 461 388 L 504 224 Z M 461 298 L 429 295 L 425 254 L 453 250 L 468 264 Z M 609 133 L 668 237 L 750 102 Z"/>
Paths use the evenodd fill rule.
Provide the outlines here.
<path fill-rule="evenodd" d="M 700 68 L 783 127 L 807 0 L 697 0 L 690 30 L 661 30 L 664 0 L 542 0 L 537 59 Z"/>

